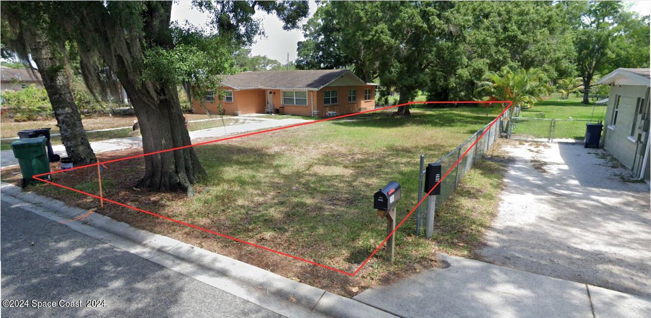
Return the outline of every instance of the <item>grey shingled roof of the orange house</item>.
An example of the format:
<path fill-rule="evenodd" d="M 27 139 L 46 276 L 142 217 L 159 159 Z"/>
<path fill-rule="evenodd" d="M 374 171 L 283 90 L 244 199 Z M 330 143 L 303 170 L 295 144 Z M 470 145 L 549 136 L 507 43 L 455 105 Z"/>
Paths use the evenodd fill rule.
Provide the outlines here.
<path fill-rule="evenodd" d="M 318 90 L 350 70 L 270 70 L 227 75 L 221 85 L 234 89 L 311 89 Z M 357 76 L 355 76 L 357 78 Z M 359 78 L 357 78 L 359 79 Z M 365 85 L 359 79 L 359 85 Z"/>

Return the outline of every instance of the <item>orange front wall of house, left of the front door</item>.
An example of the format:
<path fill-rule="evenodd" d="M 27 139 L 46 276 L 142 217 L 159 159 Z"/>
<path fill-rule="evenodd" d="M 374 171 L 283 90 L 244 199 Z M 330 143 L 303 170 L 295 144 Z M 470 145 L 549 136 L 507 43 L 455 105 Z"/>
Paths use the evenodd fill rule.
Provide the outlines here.
<path fill-rule="evenodd" d="M 236 91 L 232 87 L 222 87 L 222 89 L 229 89 L 233 91 L 232 102 L 222 101 L 222 107 L 224 108 L 225 115 L 235 115 L 236 111 L 242 111 L 242 114 L 264 113 L 264 108 L 266 105 L 266 96 L 264 90 L 247 89 L 243 91 Z M 192 106 L 195 109 L 195 113 L 206 113 L 206 111 L 201 108 L 198 98 L 194 98 Z M 211 113 L 217 114 L 219 113 L 219 100 L 215 99 L 215 102 L 204 101 L 204 107 L 208 108 Z"/>

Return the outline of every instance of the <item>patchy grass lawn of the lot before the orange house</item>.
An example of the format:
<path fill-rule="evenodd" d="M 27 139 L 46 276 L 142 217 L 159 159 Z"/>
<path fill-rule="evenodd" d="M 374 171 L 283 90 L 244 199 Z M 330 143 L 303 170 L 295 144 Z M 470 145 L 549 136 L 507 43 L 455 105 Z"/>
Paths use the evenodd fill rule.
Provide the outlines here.
<path fill-rule="evenodd" d="M 197 152 L 210 178 L 197 185 L 193 199 L 171 204 L 168 212 L 193 224 L 211 220 L 217 231 L 234 237 L 351 269 L 385 235 L 372 194 L 389 181 L 400 182 L 398 218 L 404 218 L 417 201 L 419 155 L 436 161 L 492 116 L 477 108 L 414 109 L 406 118 L 365 115 L 201 147 Z M 495 203 L 498 175 L 494 169 L 471 173 L 466 188 L 486 186 L 480 192 Z M 485 214 L 475 208 L 492 205 L 466 209 L 467 204 L 474 205 L 459 199 L 446 208 L 455 212 L 441 211 L 452 218 L 445 222 L 450 232 L 437 238 L 446 249 L 467 253 L 488 225 L 475 222 L 476 214 Z M 414 229 L 412 218 L 398 231 L 398 267 L 431 256 L 431 241 L 412 237 Z"/>

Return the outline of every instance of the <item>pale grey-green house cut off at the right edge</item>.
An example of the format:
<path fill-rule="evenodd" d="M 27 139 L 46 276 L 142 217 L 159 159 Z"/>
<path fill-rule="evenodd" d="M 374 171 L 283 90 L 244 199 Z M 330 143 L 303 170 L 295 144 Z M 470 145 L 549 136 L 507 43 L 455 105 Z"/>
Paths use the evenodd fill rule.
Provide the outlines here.
<path fill-rule="evenodd" d="M 649 180 L 648 68 L 617 68 L 598 84 L 611 85 L 603 148 L 610 151 L 635 177 Z"/>

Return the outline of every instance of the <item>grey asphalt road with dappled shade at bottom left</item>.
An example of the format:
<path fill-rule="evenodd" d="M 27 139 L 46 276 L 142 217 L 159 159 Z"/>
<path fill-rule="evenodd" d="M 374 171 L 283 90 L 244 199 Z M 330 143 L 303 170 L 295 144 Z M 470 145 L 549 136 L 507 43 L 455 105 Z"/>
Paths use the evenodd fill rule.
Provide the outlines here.
<path fill-rule="evenodd" d="M 0 210 L 2 317 L 283 317 L 31 212 Z"/>

